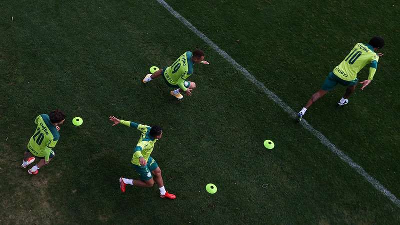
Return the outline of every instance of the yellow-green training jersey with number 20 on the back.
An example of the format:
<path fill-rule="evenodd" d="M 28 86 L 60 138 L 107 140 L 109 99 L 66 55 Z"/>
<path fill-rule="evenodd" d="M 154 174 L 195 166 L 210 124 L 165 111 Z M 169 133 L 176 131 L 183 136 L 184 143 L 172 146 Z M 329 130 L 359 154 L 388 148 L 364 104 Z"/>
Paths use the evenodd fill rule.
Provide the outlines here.
<path fill-rule="evenodd" d="M 51 148 L 54 148 L 58 142 L 59 133 L 47 114 L 37 116 L 34 123 L 37 127 L 27 145 L 28 150 L 32 155 L 44 157 L 48 161 Z"/>

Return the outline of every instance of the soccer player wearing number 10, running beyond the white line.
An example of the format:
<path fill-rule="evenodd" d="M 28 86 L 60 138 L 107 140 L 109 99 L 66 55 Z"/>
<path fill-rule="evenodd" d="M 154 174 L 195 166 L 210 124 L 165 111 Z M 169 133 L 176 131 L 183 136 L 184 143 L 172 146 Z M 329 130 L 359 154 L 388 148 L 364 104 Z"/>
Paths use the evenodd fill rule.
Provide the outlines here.
<path fill-rule="evenodd" d="M 371 82 L 377 68 L 379 57 L 383 56 L 382 53 L 375 53 L 375 51 L 381 49 L 383 45 L 384 40 L 380 36 L 372 37 L 368 44 L 356 43 L 344 60 L 328 74 L 322 87 L 311 96 L 307 104 L 297 113 L 296 120 L 300 121 L 304 116 L 305 111 L 312 105 L 312 103 L 324 96 L 328 91 L 332 90 L 337 83 L 347 86 L 343 97 L 337 102 L 337 105 L 343 106 L 347 104 L 347 98 L 354 92 L 355 87 L 357 86 L 358 71 L 368 63 L 370 64 L 368 79 L 359 82 L 362 84 L 361 90 Z"/>

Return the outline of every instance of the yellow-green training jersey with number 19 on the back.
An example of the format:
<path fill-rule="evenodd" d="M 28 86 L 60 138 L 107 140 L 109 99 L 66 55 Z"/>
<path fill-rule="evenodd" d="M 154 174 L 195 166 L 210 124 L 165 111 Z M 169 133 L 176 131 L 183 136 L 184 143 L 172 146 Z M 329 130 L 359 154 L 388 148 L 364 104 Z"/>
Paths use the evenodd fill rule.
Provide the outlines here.
<path fill-rule="evenodd" d="M 191 61 L 191 56 L 192 53 L 186 51 L 179 56 L 171 66 L 166 67 L 164 71 L 165 79 L 170 84 L 178 85 L 183 91 L 186 91 L 187 89 L 183 84 L 184 80 L 193 74 L 193 62 Z"/>

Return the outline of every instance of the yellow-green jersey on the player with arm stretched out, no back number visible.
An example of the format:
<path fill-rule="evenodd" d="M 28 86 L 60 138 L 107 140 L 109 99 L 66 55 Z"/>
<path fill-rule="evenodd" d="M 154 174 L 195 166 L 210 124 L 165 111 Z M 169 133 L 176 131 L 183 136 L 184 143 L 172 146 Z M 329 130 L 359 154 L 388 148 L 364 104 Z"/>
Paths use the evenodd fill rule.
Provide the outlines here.
<path fill-rule="evenodd" d="M 140 139 L 133 150 L 132 160 L 130 161 L 134 165 L 141 166 L 139 158 L 143 157 L 147 161 L 153 151 L 154 143 L 158 141 L 158 139 L 154 139 L 150 136 L 151 127 L 149 126 L 125 120 L 121 120 L 120 123 L 128 127 L 134 127 L 141 132 Z"/>

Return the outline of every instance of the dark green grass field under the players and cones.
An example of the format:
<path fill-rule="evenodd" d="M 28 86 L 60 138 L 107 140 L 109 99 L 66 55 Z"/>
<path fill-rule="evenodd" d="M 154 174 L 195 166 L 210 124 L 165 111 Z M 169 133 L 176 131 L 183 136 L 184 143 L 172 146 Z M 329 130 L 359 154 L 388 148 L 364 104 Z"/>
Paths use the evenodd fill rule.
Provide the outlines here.
<path fill-rule="evenodd" d="M 304 118 L 400 197 L 398 2 L 167 3 L 296 111 L 356 42 L 383 36 L 371 84 L 343 108 L 336 87 Z M 0 224 L 400 224 L 395 204 L 157 1 L 5 0 L 0 13 Z M 211 64 L 195 66 L 191 97 L 141 83 L 195 46 Z M 33 120 L 56 108 L 57 155 L 31 176 L 20 164 Z M 109 115 L 163 127 L 152 157 L 176 200 L 120 192 L 119 177 L 137 178 L 139 132 Z"/>

